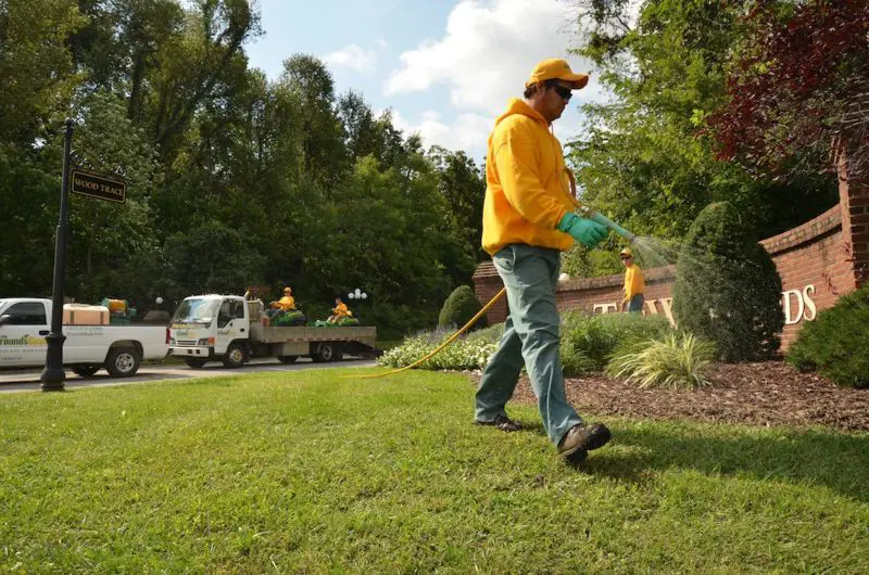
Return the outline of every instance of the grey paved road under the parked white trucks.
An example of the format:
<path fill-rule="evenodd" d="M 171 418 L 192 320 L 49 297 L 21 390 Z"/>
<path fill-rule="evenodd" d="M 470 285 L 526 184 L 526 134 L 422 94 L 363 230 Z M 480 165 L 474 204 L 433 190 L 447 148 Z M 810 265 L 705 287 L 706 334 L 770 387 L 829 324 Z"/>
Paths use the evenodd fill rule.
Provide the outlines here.
<path fill-rule="evenodd" d="M 133 378 L 112 378 L 105 371 L 100 371 L 92 378 L 79 378 L 72 371 L 66 371 L 67 389 L 81 387 L 102 387 L 108 385 L 130 385 L 163 380 L 185 380 L 190 378 L 217 378 L 221 375 L 242 375 L 260 373 L 263 371 L 299 371 L 305 369 L 332 369 L 332 368 L 369 368 L 375 366 L 371 359 L 348 359 L 330 363 L 314 363 L 310 359 L 301 358 L 297 363 L 285 366 L 273 359 L 255 359 L 239 369 L 226 369 L 219 362 L 209 363 L 202 369 L 190 369 L 184 363 L 168 366 L 149 366 L 139 368 Z M 41 369 L 34 370 L 0 370 L 0 393 L 39 391 L 39 375 Z"/>

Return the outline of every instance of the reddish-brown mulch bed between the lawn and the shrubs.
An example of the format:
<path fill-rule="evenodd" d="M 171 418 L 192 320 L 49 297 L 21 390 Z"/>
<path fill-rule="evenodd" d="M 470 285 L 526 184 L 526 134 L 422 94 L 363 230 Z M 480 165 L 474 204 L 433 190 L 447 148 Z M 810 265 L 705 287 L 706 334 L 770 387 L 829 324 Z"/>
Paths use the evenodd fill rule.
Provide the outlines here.
<path fill-rule="evenodd" d="M 604 375 L 567 380 L 566 388 L 580 414 L 869 430 L 869 389 L 837 387 L 783 361 L 718 365 L 709 379 L 711 386 L 693 392 L 639 389 Z M 513 400 L 537 404 L 527 378 Z"/>

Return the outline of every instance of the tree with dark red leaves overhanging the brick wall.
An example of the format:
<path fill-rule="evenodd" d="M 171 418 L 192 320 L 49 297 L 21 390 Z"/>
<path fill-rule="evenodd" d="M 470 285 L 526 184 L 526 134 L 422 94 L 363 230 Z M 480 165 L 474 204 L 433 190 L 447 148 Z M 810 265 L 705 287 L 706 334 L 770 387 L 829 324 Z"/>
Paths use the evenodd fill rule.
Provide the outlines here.
<path fill-rule="evenodd" d="M 719 156 L 780 177 L 869 169 L 869 0 L 756 0 L 734 54 L 728 104 L 707 122 Z"/>

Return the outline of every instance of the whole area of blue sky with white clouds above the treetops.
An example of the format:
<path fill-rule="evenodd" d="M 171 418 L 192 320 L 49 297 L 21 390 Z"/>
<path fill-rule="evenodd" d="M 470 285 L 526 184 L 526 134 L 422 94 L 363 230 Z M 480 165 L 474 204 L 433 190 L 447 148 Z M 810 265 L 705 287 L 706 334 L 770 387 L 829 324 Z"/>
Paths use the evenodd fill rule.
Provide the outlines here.
<path fill-rule="evenodd" d="M 308 53 L 327 62 L 338 93 L 361 92 L 375 111 L 392 108 L 426 145 L 464 150 L 476 161 L 507 99 L 520 95 L 533 65 L 571 56 L 576 24 L 564 0 L 259 0 L 264 36 L 245 49 L 275 79 L 282 62 Z M 594 75 L 555 123 L 565 142 L 578 133 L 576 102 L 600 100 Z"/>

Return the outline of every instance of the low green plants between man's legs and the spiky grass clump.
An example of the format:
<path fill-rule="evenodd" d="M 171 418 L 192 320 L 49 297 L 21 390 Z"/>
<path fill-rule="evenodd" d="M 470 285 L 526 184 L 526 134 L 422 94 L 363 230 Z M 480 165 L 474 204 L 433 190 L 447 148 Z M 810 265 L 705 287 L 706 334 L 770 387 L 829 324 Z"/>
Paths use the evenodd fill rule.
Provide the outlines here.
<path fill-rule="evenodd" d="M 562 316 L 562 361 L 565 375 L 602 371 L 622 345 L 657 337 L 672 330 L 663 316 L 568 311 Z"/>

